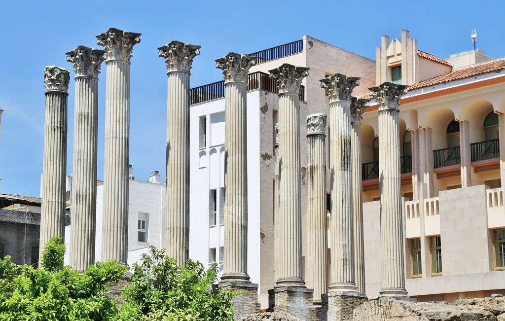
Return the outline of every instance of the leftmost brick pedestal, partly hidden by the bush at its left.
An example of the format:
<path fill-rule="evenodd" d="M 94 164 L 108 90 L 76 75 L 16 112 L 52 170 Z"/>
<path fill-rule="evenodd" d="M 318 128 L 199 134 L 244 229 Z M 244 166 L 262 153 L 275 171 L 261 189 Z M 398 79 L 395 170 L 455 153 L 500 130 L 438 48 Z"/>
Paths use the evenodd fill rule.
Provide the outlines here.
<path fill-rule="evenodd" d="M 235 319 L 245 317 L 250 314 L 260 313 L 260 303 L 258 303 L 258 284 L 249 281 L 222 280 L 219 283 L 223 288 L 231 291 L 241 291 L 235 296 L 233 304 L 233 314 Z"/>

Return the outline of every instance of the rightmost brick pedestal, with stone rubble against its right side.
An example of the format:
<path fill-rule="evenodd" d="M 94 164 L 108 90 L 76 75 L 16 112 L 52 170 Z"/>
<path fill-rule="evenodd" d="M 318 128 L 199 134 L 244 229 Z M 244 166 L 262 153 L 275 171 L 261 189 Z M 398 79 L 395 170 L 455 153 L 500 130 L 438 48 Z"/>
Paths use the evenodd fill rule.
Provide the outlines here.
<path fill-rule="evenodd" d="M 328 294 L 323 294 L 322 308 L 320 314 L 321 321 L 340 321 L 352 320 L 352 313 L 361 304 L 368 302 L 368 299 L 363 294 L 356 292 L 332 291 Z"/>

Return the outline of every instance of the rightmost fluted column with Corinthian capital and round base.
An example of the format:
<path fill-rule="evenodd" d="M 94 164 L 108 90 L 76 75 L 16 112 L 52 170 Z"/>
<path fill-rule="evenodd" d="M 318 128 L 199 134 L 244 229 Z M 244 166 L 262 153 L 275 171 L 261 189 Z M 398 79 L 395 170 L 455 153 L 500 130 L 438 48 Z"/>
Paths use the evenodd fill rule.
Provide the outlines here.
<path fill-rule="evenodd" d="M 382 289 L 380 298 L 407 299 L 401 208 L 398 113 L 407 86 L 385 82 L 370 88 L 379 113 L 379 188 Z"/>

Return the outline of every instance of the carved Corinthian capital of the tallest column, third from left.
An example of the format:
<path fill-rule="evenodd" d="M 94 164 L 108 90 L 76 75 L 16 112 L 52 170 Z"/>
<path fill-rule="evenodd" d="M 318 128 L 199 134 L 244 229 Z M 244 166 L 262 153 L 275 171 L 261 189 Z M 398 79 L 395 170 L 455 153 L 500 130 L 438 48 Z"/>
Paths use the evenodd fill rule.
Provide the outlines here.
<path fill-rule="evenodd" d="M 133 46 L 140 42 L 140 33 L 110 28 L 96 36 L 96 43 L 105 48 L 105 59 L 130 61 Z"/>

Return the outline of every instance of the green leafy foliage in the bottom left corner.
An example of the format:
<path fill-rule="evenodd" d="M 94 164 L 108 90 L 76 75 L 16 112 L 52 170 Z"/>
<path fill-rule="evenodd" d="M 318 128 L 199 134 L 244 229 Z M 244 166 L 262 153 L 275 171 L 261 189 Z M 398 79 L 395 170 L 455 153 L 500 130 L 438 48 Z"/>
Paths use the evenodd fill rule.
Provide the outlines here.
<path fill-rule="evenodd" d="M 78 273 L 63 267 L 61 243 L 62 238 L 55 237 L 45 245 L 39 269 L 16 266 L 9 256 L 0 260 L 0 321 L 113 320 L 117 316 L 115 302 L 105 291 L 107 283 L 117 282 L 127 267 L 111 260 Z"/>

